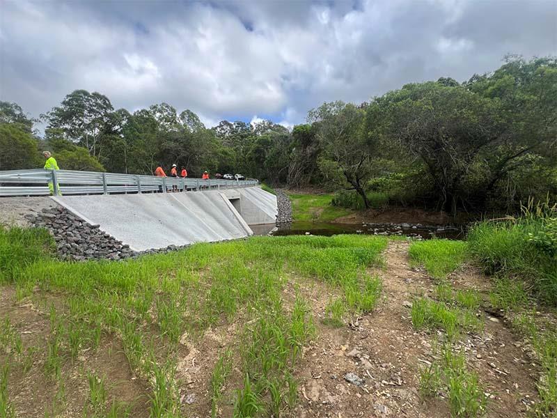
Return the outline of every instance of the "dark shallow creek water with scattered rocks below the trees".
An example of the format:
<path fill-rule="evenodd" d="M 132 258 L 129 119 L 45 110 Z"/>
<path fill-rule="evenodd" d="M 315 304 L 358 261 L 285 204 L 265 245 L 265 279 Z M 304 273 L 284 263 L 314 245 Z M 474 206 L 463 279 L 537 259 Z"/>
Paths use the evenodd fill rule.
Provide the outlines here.
<path fill-rule="evenodd" d="M 292 222 L 281 224 L 270 235 L 338 235 L 359 233 L 366 235 L 405 235 L 412 238 L 430 239 L 433 237 L 459 240 L 465 231 L 452 226 L 400 226 L 397 224 L 335 224 L 329 222 Z"/>

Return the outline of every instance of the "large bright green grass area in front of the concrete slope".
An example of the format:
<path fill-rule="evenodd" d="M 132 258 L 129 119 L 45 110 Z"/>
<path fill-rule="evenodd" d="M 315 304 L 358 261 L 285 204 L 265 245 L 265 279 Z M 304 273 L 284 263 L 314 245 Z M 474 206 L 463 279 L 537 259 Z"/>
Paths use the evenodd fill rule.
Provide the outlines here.
<path fill-rule="evenodd" d="M 209 327 L 233 323 L 245 325 L 228 337 L 214 366 L 212 415 L 225 401 L 235 405 L 236 416 L 292 410 L 298 387 L 293 376 L 315 325 L 304 296 L 289 297 L 285 285 L 324 283 L 343 305 L 335 314 L 342 325 L 348 314 L 368 313 L 379 303 L 381 281 L 367 270 L 382 265 L 387 245 L 386 238 L 370 235 L 253 237 L 118 263 L 73 263 L 52 258 L 49 239 L 33 231 L 0 231 L 6 254 L 12 251 L 7 236 L 16 236 L 16 247 L 42 243 L 33 257 L 17 258 L 2 276 L 3 284 L 25 289 L 22 297 L 40 305 L 50 321 L 42 346 L 17 349 L 21 362 L 29 373 L 44 371 L 46 382 L 58 382 L 45 383 L 47 391 L 60 391 L 60 382 L 81 373 L 91 396 L 81 406 L 86 414 L 103 416 L 125 416 L 130 408 L 121 406 L 118 394 L 111 396 L 108 382 L 79 371 L 79 353 L 118 340 L 134 376 L 148 388 L 150 416 L 180 416 L 188 408 L 180 403 L 175 373 L 181 341 L 194 342 Z M 45 302 L 50 297 L 56 306 Z M 5 323 L 3 330 L 3 346 L 17 346 L 13 327 Z M 240 349 L 233 348 L 235 341 L 242 341 Z M 239 379 L 240 387 L 233 383 Z M 63 414 L 64 408 L 58 401 L 49 411 Z"/>

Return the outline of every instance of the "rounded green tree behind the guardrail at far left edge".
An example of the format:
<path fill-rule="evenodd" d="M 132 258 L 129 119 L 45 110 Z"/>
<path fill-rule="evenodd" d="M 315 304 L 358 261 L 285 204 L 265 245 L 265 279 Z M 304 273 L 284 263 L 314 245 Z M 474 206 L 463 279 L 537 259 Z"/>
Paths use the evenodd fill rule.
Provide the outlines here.
<path fill-rule="evenodd" d="M 21 123 L 0 123 L 0 170 L 42 167 L 37 141 Z"/>

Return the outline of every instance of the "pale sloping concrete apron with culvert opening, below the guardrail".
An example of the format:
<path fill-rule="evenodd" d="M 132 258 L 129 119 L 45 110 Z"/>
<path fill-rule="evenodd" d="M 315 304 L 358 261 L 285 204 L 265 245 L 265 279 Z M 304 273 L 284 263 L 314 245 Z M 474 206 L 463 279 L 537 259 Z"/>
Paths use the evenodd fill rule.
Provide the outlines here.
<path fill-rule="evenodd" d="M 276 196 L 259 187 L 52 199 L 134 251 L 247 237 L 248 224 L 274 224 L 277 212 Z"/>

